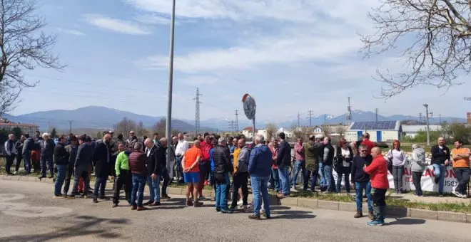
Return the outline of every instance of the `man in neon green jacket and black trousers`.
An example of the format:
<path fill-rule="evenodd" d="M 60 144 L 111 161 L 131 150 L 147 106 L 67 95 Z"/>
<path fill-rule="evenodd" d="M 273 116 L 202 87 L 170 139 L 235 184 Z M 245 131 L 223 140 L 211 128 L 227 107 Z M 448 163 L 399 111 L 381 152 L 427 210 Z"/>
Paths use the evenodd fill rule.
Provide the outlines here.
<path fill-rule="evenodd" d="M 118 206 L 119 193 L 124 185 L 124 194 L 126 201 L 131 204 L 131 167 L 129 167 L 129 154 L 133 152 L 133 144 L 129 144 L 128 149 L 124 150 L 124 144 L 118 144 L 119 154 L 116 157 L 114 169 L 116 171 L 116 186 L 114 186 L 113 208 Z"/>

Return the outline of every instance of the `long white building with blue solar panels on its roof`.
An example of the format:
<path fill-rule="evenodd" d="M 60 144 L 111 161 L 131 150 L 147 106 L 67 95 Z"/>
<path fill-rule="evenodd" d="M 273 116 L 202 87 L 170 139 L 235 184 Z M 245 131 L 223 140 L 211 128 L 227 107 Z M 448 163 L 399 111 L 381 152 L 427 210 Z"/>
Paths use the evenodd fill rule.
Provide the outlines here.
<path fill-rule="evenodd" d="M 402 130 L 400 121 L 353 122 L 345 131 L 345 139 L 359 140 L 365 132 L 370 134 L 373 142 L 386 142 L 400 140 Z"/>

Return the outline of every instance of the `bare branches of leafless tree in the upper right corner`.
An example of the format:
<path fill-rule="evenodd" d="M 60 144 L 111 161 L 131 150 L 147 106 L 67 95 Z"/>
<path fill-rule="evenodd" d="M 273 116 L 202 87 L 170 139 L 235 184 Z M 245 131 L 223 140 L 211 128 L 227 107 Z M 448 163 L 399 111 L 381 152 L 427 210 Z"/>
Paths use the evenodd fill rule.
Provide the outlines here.
<path fill-rule="evenodd" d="M 377 31 L 361 36 L 363 53 L 369 58 L 398 48 L 405 60 L 399 73 L 376 70 L 375 79 L 385 84 L 381 98 L 416 85 L 459 85 L 458 76 L 471 71 L 471 1 L 380 1 L 368 14 Z"/>

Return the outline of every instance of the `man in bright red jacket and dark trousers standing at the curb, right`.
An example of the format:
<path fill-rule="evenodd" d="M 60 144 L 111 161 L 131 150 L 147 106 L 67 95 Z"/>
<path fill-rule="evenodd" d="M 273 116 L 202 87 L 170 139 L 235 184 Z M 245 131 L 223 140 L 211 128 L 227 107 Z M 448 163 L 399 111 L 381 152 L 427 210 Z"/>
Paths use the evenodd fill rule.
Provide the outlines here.
<path fill-rule="evenodd" d="M 385 211 L 386 211 L 386 191 L 389 188 L 388 182 L 388 162 L 385 157 L 381 154 L 380 147 L 374 147 L 371 149 L 371 156 L 373 156 L 373 162 L 367 167 L 363 167 L 363 170 L 370 174 L 372 197 L 373 200 L 373 212 L 375 219 L 369 221 L 370 226 L 382 226 L 385 223 Z"/>

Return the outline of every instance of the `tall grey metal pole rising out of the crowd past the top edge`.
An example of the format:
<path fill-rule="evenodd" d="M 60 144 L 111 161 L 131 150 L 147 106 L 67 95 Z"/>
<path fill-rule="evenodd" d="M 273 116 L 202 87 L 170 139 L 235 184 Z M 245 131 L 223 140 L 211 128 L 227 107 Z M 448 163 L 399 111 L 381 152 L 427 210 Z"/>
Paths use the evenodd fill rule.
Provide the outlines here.
<path fill-rule="evenodd" d="M 172 132 L 172 88 L 173 88 L 173 36 L 175 36 L 175 0 L 172 5 L 172 17 L 170 24 L 170 64 L 168 65 L 168 93 L 167 93 L 167 124 L 166 124 L 166 137 L 167 144 L 171 144 Z M 170 162 L 171 152 L 167 152 L 167 162 Z"/>

